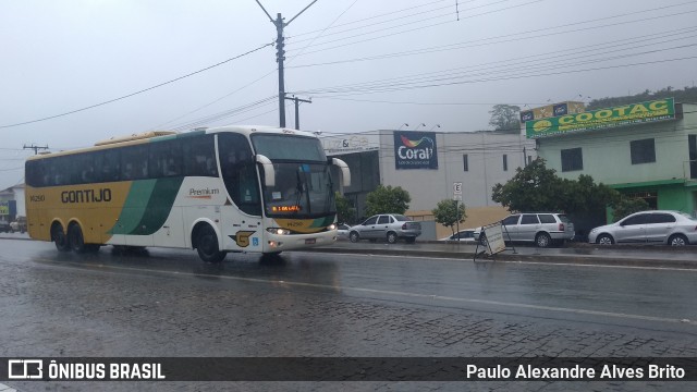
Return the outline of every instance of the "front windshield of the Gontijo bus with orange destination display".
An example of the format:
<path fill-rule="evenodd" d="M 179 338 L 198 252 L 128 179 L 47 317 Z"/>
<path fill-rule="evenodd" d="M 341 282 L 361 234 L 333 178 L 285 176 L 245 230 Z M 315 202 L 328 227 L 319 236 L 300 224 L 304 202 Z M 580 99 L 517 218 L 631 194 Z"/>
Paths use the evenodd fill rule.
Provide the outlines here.
<path fill-rule="evenodd" d="M 273 162 L 276 186 L 264 188 L 265 212 L 273 218 L 326 217 L 335 213 L 327 157 L 314 137 L 253 135 L 257 154 Z"/>

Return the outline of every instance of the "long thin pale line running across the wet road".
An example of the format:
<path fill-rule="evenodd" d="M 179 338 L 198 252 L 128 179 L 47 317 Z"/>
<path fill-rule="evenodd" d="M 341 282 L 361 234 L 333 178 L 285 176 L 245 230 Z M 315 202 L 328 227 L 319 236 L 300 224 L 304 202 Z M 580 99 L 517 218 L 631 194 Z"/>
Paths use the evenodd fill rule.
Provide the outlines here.
<path fill-rule="evenodd" d="M 421 293 L 409 293 L 409 292 L 391 291 L 391 290 L 368 289 L 368 287 L 354 287 L 354 286 L 342 286 L 342 285 L 307 283 L 307 282 L 293 282 L 293 281 L 274 280 L 274 279 L 244 278 L 244 277 L 181 272 L 181 271 L 164 271 L 164 270 L 156 270 L 156 269 L 148 269 L 148 268 L 111 266 L 111 265 L 105 265 L 105 264 L 57 262 L 50 259 L 38 259 L 38 260 L 47 261 L 52 265 L 64 266 L 64 265 L 71 264 L 80 267 L 82 266 L 99 267 L 102 269 L 106 268 L 106 269 L 122 270 L 122 271 L 129 271 L 129 272 L 140 272 L 140 273 L 150 272 L 156 274 L 159 273 L 159 274 L 170 274 L 170 275 L 189 275 L 189 277 L 200 277 L 200 278 L 215 277 L 217 279 L 227 279 L 227 280 L 250 282 L 250 283 L 264 283 L 269 285 L 289 285 L 289 286 L 298 286 L 298 287 L 322 289 L 322 290 L 330 290 L 330 291 L 340 290 L 340 291 L 350 291 L 350 292 L 357 292 L 357 293 L 390 295 L 390 296 L 396 296 L 396 297 L 411 297 L 411 298 L 456 302 L 456 303 L 477 304 L 477 305 L 493 305 L 493 306 L 502 306 L 502 307 L 510 307 L 510 308 L 534 309 L 534 310 L 545 310 L 545 311 L 588 315 L 588 316 L 604 316 L 604 317 L 625 318 L 625 319 L 643 320 L 643 321 L 658 321 L 658 322 L 671 322 L 671 323 L 697 326 L 697 320 L 632 315 L 632 314 L 623 314 L 623 313 L 614 313 L 614 311 L 576 309 L 576 308 L 567 308 L 567 307 L 509 303 L 509 302 L 478 299 L 478 298 L 462 298 L 462 297 L 443 296 L 443 295 L 436 295 L 436 294 L 421 294 Z M 109 271 L 106 271 L 106 272 L 109 272 Z"/>

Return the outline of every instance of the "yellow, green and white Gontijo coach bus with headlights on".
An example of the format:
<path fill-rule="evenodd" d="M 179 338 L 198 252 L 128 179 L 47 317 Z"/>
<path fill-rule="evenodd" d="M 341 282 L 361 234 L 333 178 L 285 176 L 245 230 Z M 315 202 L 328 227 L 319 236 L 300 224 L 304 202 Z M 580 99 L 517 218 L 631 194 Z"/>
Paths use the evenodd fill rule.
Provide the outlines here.
<path fill-rule="evenodd" d="M 101 245 L 279 254 L 337 238 L 331 167 L 309 132 L 223 126 L 149 132 L 26 161 L 32 238 L 60 252 Z"/>

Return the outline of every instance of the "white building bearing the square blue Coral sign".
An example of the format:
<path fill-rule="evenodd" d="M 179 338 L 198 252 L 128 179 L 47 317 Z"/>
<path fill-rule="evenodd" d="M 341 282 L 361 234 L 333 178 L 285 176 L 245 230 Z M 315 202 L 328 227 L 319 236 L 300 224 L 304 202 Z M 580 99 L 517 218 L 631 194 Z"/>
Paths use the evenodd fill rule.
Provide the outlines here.
<path fill-rule="evenodd" d="M 498 132 L 414 132 L 380 130 L 322 138 L 329 156 L 343 159 L 352 171 L 352 185 L 344 189 L 358 218 L 364 216 L 366 195 L 378 184 L 401 186 L 412 197 L 407 215 L 432 221 L 431 210 L 440 200 L 453 200 L 454 185 L 462 183 L 467 207 L 466 228 L 499 220 L 508 211 L 491 200 L 491 187 L 505 183 L 517 168 L 535 159 L 535 142 L 519 134 Z M 436 226 L 424 240 L 449 232 Z M 464 228 L 461 228 L 464 229 Z"/>

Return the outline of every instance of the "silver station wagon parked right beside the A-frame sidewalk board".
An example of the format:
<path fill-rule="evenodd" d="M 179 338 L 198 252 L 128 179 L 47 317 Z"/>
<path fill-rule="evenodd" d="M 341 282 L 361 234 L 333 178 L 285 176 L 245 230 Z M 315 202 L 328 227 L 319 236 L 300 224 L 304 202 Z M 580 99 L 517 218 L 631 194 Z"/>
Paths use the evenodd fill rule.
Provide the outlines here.
<path fill-rule="evenodd" d="M 503 240 L 512 242 L 531 242 L 539 247 L 552 243 L 564 243 L 574 238 L 574 223 L 563 213 L 524 212 L 514 213 L 501 221 L 504 226 Z M 508 232 L 508 234 L 506 234 Z M 486 235 L 481 228 L 475 231 L 475 241 L 485 244 Z"/>

